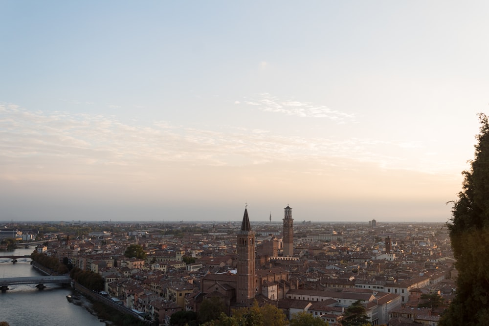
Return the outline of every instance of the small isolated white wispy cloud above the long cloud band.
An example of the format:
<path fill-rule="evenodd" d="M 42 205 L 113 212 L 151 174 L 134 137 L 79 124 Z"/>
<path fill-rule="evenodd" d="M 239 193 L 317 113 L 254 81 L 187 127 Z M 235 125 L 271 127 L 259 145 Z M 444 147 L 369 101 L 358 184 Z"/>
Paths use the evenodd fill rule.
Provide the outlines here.
<path fill-rule="evenodd" d="M 345 113 L 330 109 L 324 105 L 316 105 L 311 102 L 297 100 L 281 100 L 268 93 L 260 94 L 259 98 L 244 102 L 245 104 L 258 106 L 266 112 L 283 113 L 303 118 L 327 118 L 338 124 L 355 122 L 355 114 Z"/>

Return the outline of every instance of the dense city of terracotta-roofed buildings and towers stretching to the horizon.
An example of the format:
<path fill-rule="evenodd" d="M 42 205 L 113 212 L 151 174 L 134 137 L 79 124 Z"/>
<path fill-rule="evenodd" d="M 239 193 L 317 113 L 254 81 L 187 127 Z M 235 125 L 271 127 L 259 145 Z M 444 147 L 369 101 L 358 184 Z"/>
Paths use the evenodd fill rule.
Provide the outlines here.
<path fill-rule="evenodd" d="M 457 271 L 443 223 L 296 221 L 289 205 L 281 222 L 251 223 L 249 214 L 245 207 L 241 220 L 224 223 L 6 223 L 0 237 L 45 241 L 35 251 L 99 274 L 99 300 L 152 325 L 175 325 L 174 313 L 199 313 L 213 299 L 227 314 L 257 301 L 330 326 L 360 300 L 371 325 L 432 326 L 453 298 Z M 144 258 L 127 257 L 134 245 Z"/>

